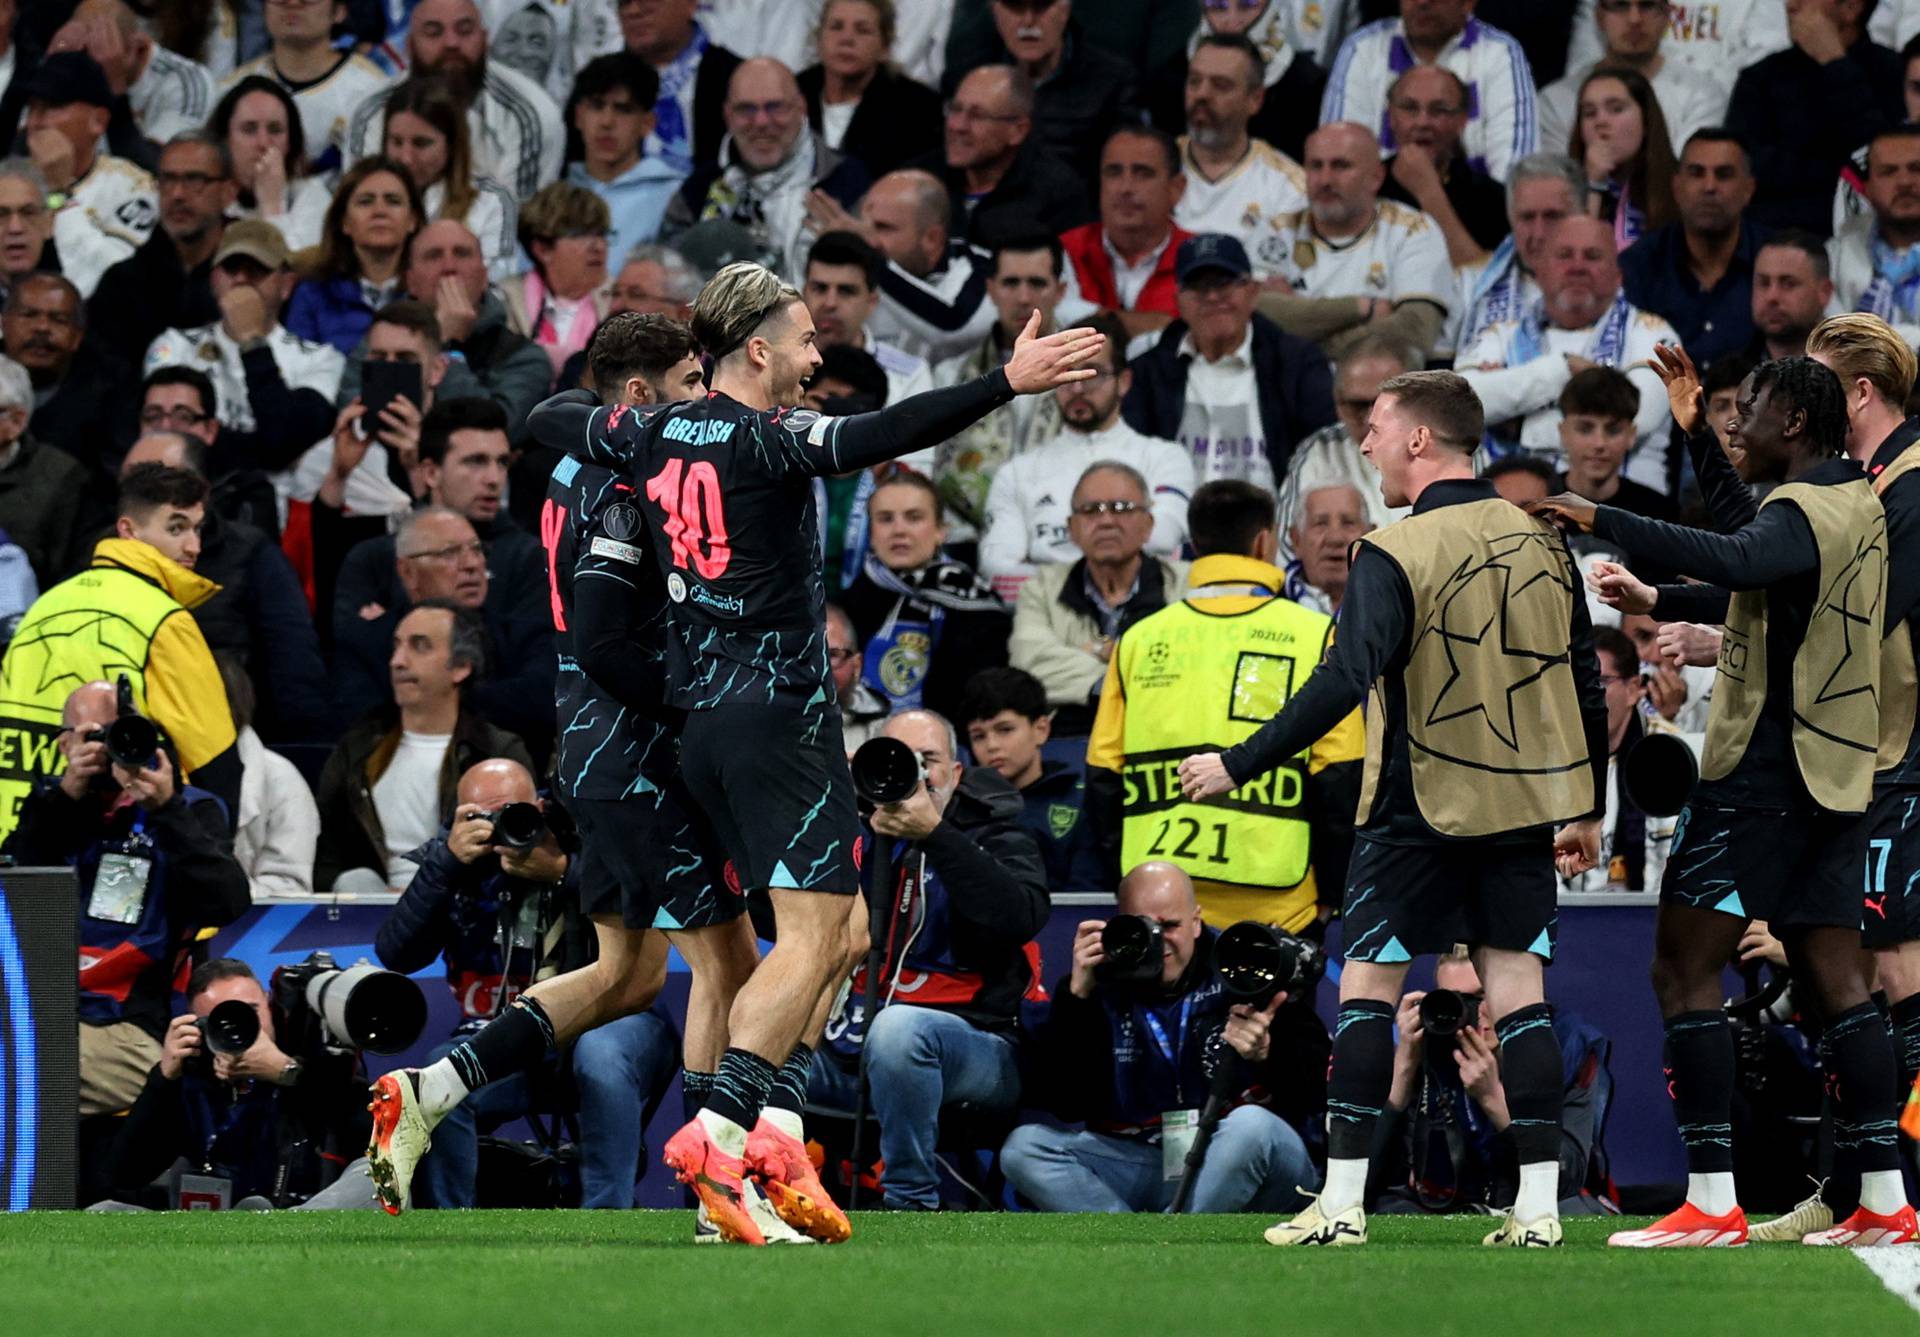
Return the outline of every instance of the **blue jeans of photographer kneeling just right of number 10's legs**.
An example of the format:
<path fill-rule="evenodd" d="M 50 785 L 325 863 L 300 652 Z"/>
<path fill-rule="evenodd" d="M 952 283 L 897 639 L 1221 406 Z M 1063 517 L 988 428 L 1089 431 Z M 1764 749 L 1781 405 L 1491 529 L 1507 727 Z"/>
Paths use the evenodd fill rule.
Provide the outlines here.
<path fill-rule="evenodd" d="M 891 1206 L 939 1206 L 941 1181 L 933 1143 L 941 1108 L 968 1103 L 1010 1110 L 1020 1103 L 1020 1068 L 1008 1035 L 931 1007 L 883 1007 L 866 1032 L 870 1108 L 879 1120 L 879 1155 L 887 1162 L 881 1191 Z M 860 1074 L 828 1055 L 814 1055 L 806 1099 L 829 1110 L 852 1110 Z"/>

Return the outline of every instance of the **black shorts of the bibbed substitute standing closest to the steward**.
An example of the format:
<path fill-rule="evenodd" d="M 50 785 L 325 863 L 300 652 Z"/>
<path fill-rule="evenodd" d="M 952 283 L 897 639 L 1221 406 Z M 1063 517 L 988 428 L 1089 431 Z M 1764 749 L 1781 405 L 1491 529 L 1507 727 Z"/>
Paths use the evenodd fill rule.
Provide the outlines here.
<path fill-rule="evenodd" d="M 1553 960 L 1553 838 L 1386 845 L 1361 836 L 1346 872 L 1340 922 L 1348 960 L 1386 966 L 1453 943 Z"/>

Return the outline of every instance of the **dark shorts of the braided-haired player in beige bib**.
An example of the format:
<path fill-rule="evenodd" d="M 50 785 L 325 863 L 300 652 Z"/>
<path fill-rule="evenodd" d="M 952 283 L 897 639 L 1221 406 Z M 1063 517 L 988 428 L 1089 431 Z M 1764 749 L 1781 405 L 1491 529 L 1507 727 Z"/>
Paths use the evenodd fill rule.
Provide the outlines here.
<path fill-rule="evenodd" d="M 1688 803 L 1661 901 L 1782 926 L 1859 928 L 1862 818 Z"/>

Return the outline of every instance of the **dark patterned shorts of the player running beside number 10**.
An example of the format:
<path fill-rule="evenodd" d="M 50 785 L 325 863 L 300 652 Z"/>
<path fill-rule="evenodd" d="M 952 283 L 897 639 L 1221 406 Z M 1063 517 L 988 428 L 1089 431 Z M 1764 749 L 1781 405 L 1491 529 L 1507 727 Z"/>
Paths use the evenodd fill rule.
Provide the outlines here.
<path fill-rule="evenodd" d="M 653 799 L 660 801 L 655 805 Z M 672 782 L 657 795 L 572 799 L 580 826 L 580 909 L 628 928 L 708 928 L 747 912 L 726 880 L 720 838 Z"/>

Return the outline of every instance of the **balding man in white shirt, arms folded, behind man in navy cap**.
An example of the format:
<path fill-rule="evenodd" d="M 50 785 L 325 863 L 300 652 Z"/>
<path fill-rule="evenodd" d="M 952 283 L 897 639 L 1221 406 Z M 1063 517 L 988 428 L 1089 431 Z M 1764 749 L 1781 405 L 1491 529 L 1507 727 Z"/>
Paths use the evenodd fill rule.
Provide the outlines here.
<path fill-rule="evenodd" d="M 1275 215 L 1256 248 L 1273 275 L 1261 315 L 1334 359 L 1363 334 L 1434 348 L 1453 307 L 1446 236 L 1419 209 L 1380 200 L 1386 165 L 1373 133 L 1315 131 L 1306 167 L 1308 207 Z"/>

